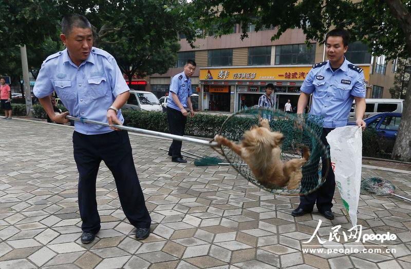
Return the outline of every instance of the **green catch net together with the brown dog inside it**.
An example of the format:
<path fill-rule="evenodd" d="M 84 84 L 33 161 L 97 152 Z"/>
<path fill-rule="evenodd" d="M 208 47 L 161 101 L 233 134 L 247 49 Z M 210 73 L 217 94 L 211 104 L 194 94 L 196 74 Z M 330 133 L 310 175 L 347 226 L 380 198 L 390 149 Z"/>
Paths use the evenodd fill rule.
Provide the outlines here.
<path fill-rule="evenodd" d="M 323 168 L 320 161 L 329 160 L 322 126 L 322 117 L 252 108 L 231 115 L 214 140 L 220 154 L 251 183 L 274 194 L 306 195 L 328 173 L 329 165 Z"/>

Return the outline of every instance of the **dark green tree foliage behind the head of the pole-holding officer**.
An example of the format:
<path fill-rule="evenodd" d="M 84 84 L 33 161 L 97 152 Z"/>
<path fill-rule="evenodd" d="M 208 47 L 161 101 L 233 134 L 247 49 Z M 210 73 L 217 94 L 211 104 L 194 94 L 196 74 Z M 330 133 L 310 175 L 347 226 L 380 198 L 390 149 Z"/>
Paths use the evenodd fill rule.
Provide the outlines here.
<path fill-rule="evenodd" d="M 62 49 L 59 34 L 65 14 L 89 19 L 95 46 L 114 55 L 129 80 L 135 73 L 165 73 L 176 63 L 178 34 L 190 40 L 196 35 L 190 10 L 178 0 L 0 0 L 0 5 L 0 56 L 26 44 L 34 78 L 42 61 Z"/>

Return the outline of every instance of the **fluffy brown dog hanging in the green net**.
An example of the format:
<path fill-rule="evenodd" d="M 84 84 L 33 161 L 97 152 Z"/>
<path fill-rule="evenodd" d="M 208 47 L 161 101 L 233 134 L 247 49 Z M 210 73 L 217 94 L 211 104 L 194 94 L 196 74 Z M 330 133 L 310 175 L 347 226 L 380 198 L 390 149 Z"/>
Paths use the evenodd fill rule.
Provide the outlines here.
<path fill-rule="evenodd" d="M 303 158 L 285 163 L 280 159 L 281 143 L 284 135 L 271 132 L 267 119 L 260 120 L 260 126 L 252 126 L 246 131 L 240 144 L 216 135 L 217 143 L 229 147 L 247 162 L 255 179 L 266 187 L 296 189 L 300 184 L 301 167 L 310 157 L 307 147 L 303 148 Z"/>

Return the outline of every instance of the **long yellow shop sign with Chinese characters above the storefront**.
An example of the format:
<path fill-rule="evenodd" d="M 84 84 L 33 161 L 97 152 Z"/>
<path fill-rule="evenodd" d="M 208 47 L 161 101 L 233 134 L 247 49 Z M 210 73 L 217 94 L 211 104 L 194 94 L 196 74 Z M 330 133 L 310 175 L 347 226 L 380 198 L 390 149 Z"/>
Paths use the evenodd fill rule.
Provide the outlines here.
<path fill-rule="evenodd" d="M 369 66 L 364 69 L 365 80 L 369 81 Z M 307 67 L 258 67 L 200 69 L 200 80 L 304 80 L 311 66 Z"/>

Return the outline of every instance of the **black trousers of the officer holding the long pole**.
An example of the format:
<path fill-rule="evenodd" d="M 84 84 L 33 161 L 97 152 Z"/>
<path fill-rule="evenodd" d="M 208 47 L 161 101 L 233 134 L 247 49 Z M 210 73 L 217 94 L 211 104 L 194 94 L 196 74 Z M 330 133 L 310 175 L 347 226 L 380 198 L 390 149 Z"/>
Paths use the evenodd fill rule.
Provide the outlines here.
<path fill-rule="evenodd" d="M 113 173 L 120 203 L 128 221 L 135 227 L 150 227 L 151 218 L 138 181 L 128 133 L 113 131 L 85 135 L 74 131 L 73 148 L 79 171 L 78 194 L 83 232 L 96 234 L 100 230 L 96 179 L 102 160 Z"/>

